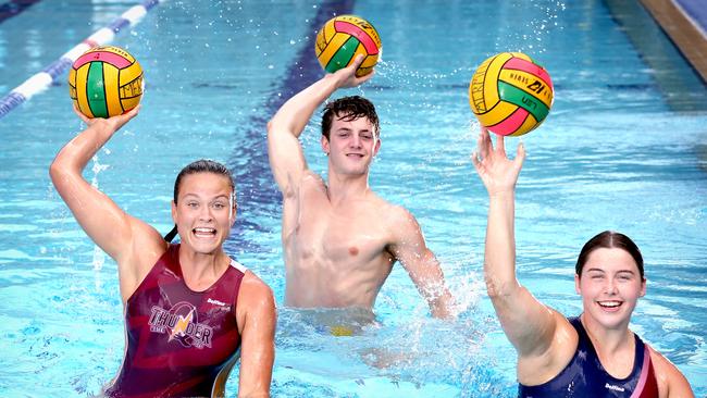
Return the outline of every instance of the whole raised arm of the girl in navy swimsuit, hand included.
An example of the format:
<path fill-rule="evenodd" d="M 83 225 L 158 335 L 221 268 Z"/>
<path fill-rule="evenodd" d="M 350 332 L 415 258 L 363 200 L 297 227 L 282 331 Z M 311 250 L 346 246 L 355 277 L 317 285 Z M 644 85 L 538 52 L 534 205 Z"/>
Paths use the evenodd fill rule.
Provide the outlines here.
<path fill-rule="evenodd" d="M 547 352 L 559 319 L 563 318 L 537 301 L 516 278 L 516 182 L 525 150 L 519 145 L 511 161 L 506 156 L 504 137 L 499 136 L 496 144 L 494 148 L 488 132 L 482 128 L 477 151 L 472 154 L 489 199 L 484 276 L 496 315 L 518 350 L 520 363 L 523 358 Z"/>

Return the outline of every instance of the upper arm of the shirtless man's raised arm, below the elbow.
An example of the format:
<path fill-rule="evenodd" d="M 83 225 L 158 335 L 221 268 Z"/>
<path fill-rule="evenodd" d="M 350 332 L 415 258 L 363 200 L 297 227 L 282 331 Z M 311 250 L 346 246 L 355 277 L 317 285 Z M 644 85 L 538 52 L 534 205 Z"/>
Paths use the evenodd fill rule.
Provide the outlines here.
<path fill-rule="evenodd" d="M 286 194 L 307 170 L 299 139 L 288 132 L 268 130 L 270 167 L 280 190 Z"/>

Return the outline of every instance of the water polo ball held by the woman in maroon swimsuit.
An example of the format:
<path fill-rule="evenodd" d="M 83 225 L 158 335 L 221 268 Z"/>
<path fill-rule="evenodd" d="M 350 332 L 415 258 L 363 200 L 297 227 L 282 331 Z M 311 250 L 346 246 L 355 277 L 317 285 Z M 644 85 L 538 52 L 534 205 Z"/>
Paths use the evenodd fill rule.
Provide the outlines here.
<path fill-rule="evenodd" d="M 88 117 L 123 114 L 140 103 L 142 69 L 121 48 L 92 48 L 78 57 L 69 71 L 69 94 Z"/>

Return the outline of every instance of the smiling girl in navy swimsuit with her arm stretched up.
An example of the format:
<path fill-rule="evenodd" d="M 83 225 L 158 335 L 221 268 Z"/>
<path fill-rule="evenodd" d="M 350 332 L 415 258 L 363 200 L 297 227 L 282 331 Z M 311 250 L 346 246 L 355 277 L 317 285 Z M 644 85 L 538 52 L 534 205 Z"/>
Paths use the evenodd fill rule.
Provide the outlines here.
<path fill-rule="evenodd" d="M 584 311 L 567 319 L 537 301 L 516 278 L 516 182 L 525 158 L 509 160 L 504 137 L 493 147 L 482 128 L 476 172 L 489 197 L 484 275 L 506 336 L 518 351 L 520 397 L 693 397 L 682 373 L 629 329 L 645 295 L 643 259 L 625 235 L 604 232 L 576 262 Z"/>

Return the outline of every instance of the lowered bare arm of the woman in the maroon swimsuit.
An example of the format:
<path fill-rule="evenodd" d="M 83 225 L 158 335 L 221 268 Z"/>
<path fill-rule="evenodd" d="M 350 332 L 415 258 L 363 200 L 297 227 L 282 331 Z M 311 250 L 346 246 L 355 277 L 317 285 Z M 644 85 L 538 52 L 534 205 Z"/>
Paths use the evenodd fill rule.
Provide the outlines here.
<path fill-rule="evenodd" d="M 276 324 L 272 290 L 256 275 L 246 273 L 236 311 L 241 336 L 238 397 L 270 397 Z"/>

